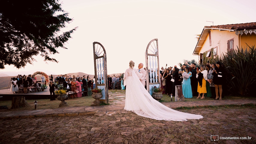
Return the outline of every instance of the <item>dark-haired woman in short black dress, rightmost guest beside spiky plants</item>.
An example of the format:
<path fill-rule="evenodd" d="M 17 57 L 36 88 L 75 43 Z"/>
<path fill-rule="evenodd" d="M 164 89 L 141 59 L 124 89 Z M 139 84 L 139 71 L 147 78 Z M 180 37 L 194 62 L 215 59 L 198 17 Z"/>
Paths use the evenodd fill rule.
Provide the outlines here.
<path fill-rule="evenodd" d="M 215 85 L 215 93 L 216 98 L 215 100 L 222 100 L 222 85 L 224 84 L 224 76 L 225 76 L 225 69 L 222 67 L 221 62 L 216 62 L 215 70 L 212 71 L 214 85 Z M 218 96 L 218 92 L 220 92 L 220 96 Z"/>

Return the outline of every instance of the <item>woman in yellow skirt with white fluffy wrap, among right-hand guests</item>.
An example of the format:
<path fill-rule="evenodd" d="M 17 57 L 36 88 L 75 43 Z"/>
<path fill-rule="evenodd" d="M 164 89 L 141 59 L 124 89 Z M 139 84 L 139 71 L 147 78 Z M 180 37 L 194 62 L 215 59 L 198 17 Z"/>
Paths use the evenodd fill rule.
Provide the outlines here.
<path fill-rule="evenodd" d="M 198 97 L 201 97 L 201 93 L 203 93 L 202 98 L 204 98 L 204 94 L 207 93 L 206 91 L 206 80 L 208 80 L 208 73 L 204 65 L 201 65 L 200 70 L 197 70 L 197 79 L 198 79 L 198 85 L 197 85 L 197 92 Z"/>

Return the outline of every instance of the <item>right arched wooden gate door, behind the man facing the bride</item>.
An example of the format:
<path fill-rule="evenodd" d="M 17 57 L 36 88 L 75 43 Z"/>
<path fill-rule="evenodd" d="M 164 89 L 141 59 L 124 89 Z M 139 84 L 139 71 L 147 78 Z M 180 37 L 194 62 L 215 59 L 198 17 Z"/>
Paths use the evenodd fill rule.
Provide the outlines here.
<path fill-rule="evenodd" d="M 152 86 L 161 86 L 159 71 L 158 39 L 149 42 L 146 52 L 146 85 L 147 91 L 152 95 Z M 157 76 L 158 75 L 158 76 Z"/>

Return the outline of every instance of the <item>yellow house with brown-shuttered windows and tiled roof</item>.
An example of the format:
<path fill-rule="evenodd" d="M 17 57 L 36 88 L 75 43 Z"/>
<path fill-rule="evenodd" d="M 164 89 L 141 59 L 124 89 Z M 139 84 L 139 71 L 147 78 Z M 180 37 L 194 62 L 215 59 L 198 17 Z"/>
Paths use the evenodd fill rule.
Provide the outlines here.
<path fill-rule="evenodd" d="M 225 52 L 238 48 L 256 46 L 256 22 L 205 26 L 194 49 L 200 63 L 206 57 L 221 56 Z M 204 54 L 204 55 L 203 55 Z"/>

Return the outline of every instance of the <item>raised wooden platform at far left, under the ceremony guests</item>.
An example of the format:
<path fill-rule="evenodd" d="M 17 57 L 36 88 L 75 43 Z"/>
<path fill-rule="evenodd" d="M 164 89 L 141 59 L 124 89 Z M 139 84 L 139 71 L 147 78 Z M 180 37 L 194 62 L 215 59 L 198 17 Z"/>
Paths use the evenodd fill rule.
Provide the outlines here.
<path fill-rule="evenodd" d="M 40 92 L 37 91 L 37 92 L 31 92 L 28 94 L 23 94 L 23 93 L 13 94 L 12 91 L 10 91 L 10 89 L 2 89 L 0 90 L 0 96 L 2 96 L 2 98 L 0 98 L 0 101 L 7 101 L 7 100 L 11 100 L 13 97 L 20 97 L 20 96 L 25 97 L 26 100 L 49 99 L 50 91 L 48 88 Z"/>

